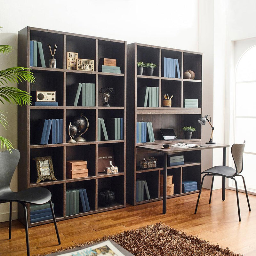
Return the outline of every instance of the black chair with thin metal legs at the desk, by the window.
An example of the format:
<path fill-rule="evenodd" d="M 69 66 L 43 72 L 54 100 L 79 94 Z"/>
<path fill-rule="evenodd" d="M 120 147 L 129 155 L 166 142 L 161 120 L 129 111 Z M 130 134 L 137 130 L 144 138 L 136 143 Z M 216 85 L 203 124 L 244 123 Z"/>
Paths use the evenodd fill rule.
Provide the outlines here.
<path fill-rule="evenodd" d="M 202 191 L 205 176 L 212 176 L 212 186 L 211 186 L 209 204 L 211 204 L 211 199 L 212 199 L 212 187 L 213 187 L 214 176 L 223 176 L 223 177 L 235 180 L 236 200 L 237 200 L 237 209 L 238 209 L 239 221 L 241 221 L 241 216 L 240 216 L 240 207 L 239 207 L 239 199 L 238 199 L 238 189 L 237 189 L 237 182 L 236 182 L 236 179 L 234 177 L 235 176 L 241 176 L 243 178 L 243 182 L 244 182 L 244 190 L 245 190 L 245 194 L 246 194 L 246 198 L 247 198 L 249 211 L 251 211 L 249 198 L 248 198 L 248 194 L 247 194 L 247 189 L 246 189 L 246 186 L 245 186 L 244 176 L 242 176 L 240 174 L 243 171 L 244 147 L 245 147 L 245 140 L 244 140 L 243 144 L 233 144 L 232 147 L 231 147 L 231 154 L 232 154 L 235 166 L 236 166 L 236 170 L 232 167 L 229 167 L 229 166 L 220 165 L 220 166 L 214 166 L 214 167 L 202 172 L 202 173 L 206 173 L 206 174 L 204 174 L 204 176 L 202 178 L 201 188 L 200 188 L 198 198 L 197 198 L 197 203 L 196 203 L 195 214 L 196 214 L 196 211 L 197 211 L 197 207 L 198 207 L 198 203 L 199 203 L 199 199 L 200 199 L 200 195 L 201 195 L 201 191 Z"/>

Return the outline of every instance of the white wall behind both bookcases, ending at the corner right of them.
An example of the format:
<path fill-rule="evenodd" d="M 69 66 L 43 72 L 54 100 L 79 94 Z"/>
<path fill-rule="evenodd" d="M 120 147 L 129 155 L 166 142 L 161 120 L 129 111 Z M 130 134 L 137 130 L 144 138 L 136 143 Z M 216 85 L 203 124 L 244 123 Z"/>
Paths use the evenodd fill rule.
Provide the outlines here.
<path fill-rule="evenodd" d="M 17 65 L 17 33 L 26 26 L 198 51 L 197 0 L 1 0 L 0 26 L 0 44 L 14 47 L 1 56 L 1 70 Z M 10 126 L 0 127 L 0 135 L 17 147 L 17 108 L 1 109 L 8 112 Z M 17 173 L 12 188 L 17 189 Z M 0 222 L 8 220 L 8 207 L 0 205 Z M 16 206 L 13 211 L 17 218 Z"/>

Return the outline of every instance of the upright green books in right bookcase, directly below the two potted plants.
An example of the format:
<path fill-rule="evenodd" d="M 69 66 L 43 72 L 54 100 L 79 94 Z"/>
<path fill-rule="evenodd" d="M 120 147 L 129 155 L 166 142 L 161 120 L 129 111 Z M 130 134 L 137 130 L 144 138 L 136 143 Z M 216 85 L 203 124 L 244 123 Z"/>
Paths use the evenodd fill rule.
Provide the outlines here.
<path fill-rule="evenodd" d="M 159 87 L 138 87 L 137 89 L 138 107 L 159 107 Z"/>

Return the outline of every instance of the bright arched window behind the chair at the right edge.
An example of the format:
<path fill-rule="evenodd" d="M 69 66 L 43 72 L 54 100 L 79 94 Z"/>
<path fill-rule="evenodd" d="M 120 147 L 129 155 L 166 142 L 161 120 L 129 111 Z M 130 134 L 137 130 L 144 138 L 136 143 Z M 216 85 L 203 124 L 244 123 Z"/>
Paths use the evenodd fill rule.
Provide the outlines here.
<path fill-rule="evenodd" d="M 244 52 L 236 66 L 233 124 L 233 141 L 246 140 L 242 172 L 246 187 L 256 192 L 256 45 Z M 242 178 L 236 180 L 240 189 L 244 189 Z M 235 187 L 230 179 L 228 185 Z"/>

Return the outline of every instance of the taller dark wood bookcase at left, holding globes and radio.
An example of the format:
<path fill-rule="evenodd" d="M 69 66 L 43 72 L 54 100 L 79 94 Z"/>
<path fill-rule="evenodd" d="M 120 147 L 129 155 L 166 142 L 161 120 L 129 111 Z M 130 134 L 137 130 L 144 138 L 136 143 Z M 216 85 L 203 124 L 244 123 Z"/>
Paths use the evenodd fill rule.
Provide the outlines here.
<path fill-rule="evenodd" d="M 29 67 L 30 40 L 42 42 L 46 68 Z M 48 44 L 58 44 L 55 59 L 57 68 L 49 67 L 51 58 Z M 78 71 L 66 69 L 67 52 L 78 52 L 78 58 L 94 60 L 94 71 Z M 100 58 L 116 59 L 121 67 L 121 74 L 103 73 L 98 71 Z M 40 60 L 38 54 L 38 60 Z M 38 61 L 40 63 L 40 61 Z M 126 133 L 124 140 L 98 141 L 98 118 L 121 117 L 126 127 L 126 42 L 78 35 L 41 28 L 26 27 L 18 33 L 18 65 L 31 68 L 36 76 L 36 83 L 19 83 L 21 90 L 56 91 L 58 107 L 27 106 L 18 108 L 18 149 L 20 151 L 18 187 L 19 190 L 34 187 L 48 188 L 52 192 L 52 202 L 57 220 L 80 217 L 92 213 L 104 212 L 125 207 L 126 202 Z M 95 107 L 66 106 L 68 92 L 73 83 L 96 84 Z M 112 87 L 115 97 L 110 107 L 102 107 L 98 92 L 102 87 Z M 69 120 L 83 113 L 89 120 L 89 129 L 83 135 L 87 140 L 81 143 L 66 143 L 69 139 L 66 131 Z M 63 143 L 36 145 L 33 138 L 38 119 L 63 119 Z M 106 123 L 106 121 L 105 121 Z M 98 148 L 113 147 L 115 165 L 118 173 L 98 173 Z M 36 165 L 33 158 L 38 156 L 52 156 L 56 181 L 41 181 L 36 183 Z M 81 159 L 87 161 L 89 176 L 86 178 L 68 179 L 66 177 L 66 160 Z M 98 192 L 102 183 L 108 183 L 115 194 L 115 202 L 103 207 L 98 204 Z M 71 187 L 86 188 L 90 203 L 90 212 L 80 212 L 66 216 L 66 189 Z M 19 209 L 19 219 L 23 220 L 23 211 Z M 49 223 L 46 220 L 30 223 L 30 206 L 28 205 L 29 227 Z"/>

